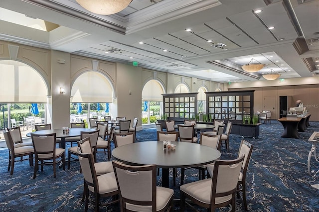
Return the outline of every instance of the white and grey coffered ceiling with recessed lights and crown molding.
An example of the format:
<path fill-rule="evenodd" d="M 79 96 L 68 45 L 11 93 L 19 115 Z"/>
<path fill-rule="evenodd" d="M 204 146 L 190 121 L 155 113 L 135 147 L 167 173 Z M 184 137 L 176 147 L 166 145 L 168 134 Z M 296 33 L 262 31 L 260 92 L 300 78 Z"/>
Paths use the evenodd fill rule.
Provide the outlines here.
<path fill-rule="evenodd" d="M 319 75 L 319 0 L 133 0 L 114 15 L 75 0 L 1 0 L 0 7 L 59 26 L 39 31 L 0 14 L 2 40 L 219 83 L 264 80 L 270 70 Z M 252 58 L 266 66 L 243 71 Z"/>

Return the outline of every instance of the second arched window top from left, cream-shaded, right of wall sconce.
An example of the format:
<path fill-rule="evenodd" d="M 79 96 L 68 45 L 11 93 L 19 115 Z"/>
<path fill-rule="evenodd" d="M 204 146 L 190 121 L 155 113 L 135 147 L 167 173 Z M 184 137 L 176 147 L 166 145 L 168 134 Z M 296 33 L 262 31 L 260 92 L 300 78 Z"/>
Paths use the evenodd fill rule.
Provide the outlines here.
<path fill-rule="evenodd" d="M 72 103 L 112 103 L 113 89 L 106 76 L 89 71 L 75 80 L 71 96 Z"/>

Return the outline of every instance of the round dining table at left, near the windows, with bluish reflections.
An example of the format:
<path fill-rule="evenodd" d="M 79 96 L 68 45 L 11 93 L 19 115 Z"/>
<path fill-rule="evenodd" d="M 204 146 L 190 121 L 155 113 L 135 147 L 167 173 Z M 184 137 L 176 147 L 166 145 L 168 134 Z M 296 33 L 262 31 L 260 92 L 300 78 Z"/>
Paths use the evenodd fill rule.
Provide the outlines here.
<path fill-rule="evenodd" d="M 38 130 L 38 131 L 26 133 L 26 136 L 31 137 L 31 133 L 34 133 L 36 135 L 56 133 L 56 138 L 61 138 L 61 148 L 65 149 L 65 138 L 80 136 L 81 132 L 92 132 L 95 130 L 90 128 L 69 128 L 69 129 L 70 131 L 68 133 L 64 133 L 62 128 L 44 129 L 44 130 Z"/>

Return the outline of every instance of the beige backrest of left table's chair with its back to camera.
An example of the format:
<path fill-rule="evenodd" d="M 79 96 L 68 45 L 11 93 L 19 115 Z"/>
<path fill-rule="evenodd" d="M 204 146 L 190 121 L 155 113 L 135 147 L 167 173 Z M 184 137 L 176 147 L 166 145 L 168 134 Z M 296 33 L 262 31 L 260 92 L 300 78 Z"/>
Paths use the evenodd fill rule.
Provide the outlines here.
<path fill-rule="evenodd" d="M 31 139 L 36 154 L 52 154 L 55 156 L 56 133 L 37 135 L 31 133 Z"/>

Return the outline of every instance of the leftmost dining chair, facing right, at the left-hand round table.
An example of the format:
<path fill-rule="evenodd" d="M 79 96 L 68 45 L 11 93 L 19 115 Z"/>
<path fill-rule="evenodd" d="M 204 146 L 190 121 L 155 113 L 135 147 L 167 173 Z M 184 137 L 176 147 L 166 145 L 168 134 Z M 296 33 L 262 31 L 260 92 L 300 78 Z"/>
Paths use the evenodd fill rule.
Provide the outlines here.
<path fill-rule="evenodd" d="M 15 146 L 15 143 L 13 142 L 13 139 L 11 137 L 11 133 L 8 131 L 4 131 L 3 136 L 4 136 L 6 146 L 9 150 L 8 171 L 10 171 L 11 169 L 10 175 L 13 174 L 14 162 L 29 160 L 29 165 L 33 166 L 33 154 L 34 154 L 33 145 Z M 29 158 L 23 159 L 23 156 L 29 156 Z M 17 157 L 19 157 L 20 160 L 15 160 L 15 158 Z"/>

